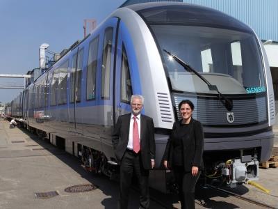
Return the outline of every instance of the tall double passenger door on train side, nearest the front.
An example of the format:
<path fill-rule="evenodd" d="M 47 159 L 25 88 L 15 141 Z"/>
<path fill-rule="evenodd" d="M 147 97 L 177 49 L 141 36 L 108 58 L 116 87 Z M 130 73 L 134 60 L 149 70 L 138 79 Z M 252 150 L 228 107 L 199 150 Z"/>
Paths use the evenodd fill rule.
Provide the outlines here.
<path fill-rule="evenodd" d="M 69 131 L 79 134 L 83 134 L 83 111 L 81 106 L 83 52 L 83 48 L 76 49 L 70 68 Z"/>

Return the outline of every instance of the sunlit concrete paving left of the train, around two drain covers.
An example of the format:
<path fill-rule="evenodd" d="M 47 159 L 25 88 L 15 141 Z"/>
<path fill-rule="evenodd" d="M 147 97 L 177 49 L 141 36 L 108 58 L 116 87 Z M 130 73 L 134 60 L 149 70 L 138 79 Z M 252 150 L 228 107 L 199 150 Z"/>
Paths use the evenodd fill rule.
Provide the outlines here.
<path fill-rule="evenodd" d="M 85 171 L 79 160 L 38 137 L 9 129 L 0 121 L 0 208 L 117 208 L 118 183 Z M 90 192 L 67 193 L 73 185 L 93 184 Z M 57 191 L 58 196 L 36 199 L 37 192 Z M 129 205 L 139 208 L 138 193 L 131 189 Z M 151 201 L 152 208 L 163 208 Z"/>

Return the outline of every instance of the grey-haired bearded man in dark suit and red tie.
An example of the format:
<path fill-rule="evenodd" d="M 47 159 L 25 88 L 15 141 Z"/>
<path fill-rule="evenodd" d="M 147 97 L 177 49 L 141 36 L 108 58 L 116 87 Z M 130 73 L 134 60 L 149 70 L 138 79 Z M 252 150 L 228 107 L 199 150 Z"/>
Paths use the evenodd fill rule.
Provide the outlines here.
<path fill-rule="evenodd" d="M 142 115 L 142 95 L 131 96 L 131 113 L 120 116 L 113 132 L 115 156 L 120 163 L 120 202 L 126 209 L 133 171 L 140 185 L 140 208 L 149 208 L 149 169 L 154 168 L 154 122 Z"/>

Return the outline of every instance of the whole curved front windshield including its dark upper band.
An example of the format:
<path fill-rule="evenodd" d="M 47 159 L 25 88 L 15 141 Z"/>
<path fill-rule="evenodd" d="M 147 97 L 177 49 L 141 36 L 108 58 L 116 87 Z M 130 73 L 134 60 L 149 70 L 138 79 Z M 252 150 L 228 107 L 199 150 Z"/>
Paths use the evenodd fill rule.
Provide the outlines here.
<path fill-rule="evenodd" d="M 194 7 L 190 11 L 145 10 L 140 15 L 152 30 L 174 91 L 215 93 L 193 72 L 169 59 L 163 49 L 188 63 L 223 94 L 266 91 L 259 43 L 249 27 L 215 10 Z"/>

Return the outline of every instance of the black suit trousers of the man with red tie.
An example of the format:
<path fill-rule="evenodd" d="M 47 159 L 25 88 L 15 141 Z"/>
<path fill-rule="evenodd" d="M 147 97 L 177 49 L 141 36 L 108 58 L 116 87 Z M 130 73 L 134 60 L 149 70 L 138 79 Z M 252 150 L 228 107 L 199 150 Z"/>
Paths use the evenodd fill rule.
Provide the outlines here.
<path fill-rule="evenodd" d="M 120 164 L 119 209 L 127 209 L 133 172 L 140 186 L 140 208 L 149 208 L 149 170 L 142 167 L 140 154 L 126 150 Z"/>

